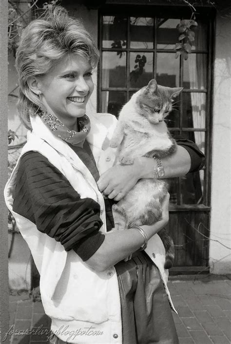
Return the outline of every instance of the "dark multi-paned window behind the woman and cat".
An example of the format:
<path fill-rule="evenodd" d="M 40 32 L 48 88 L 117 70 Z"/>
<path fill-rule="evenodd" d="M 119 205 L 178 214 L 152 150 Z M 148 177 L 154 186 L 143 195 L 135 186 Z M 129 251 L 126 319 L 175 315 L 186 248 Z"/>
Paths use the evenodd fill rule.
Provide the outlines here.
<path fill-rule="evenodd" d="M 210 20 L 196 19 L 198 27 L 189 58 L 175 58 L 176 25 L 182 15 L 139 16 L 110 11 L 100 16 L 99 111 L 118 115 L 125 102 L 149 80 L 170 87 L 184 87 L 167 118 L 169 130 L 195 142 L 209 156 Z M 120 11 L 125 13 L 125 11 Z M 209 157 L 208 157 L 209 158 Z M 207 159 L 208 163 L 208 159 Z M 171 182 L 174 207 L 209 205 L 209 171 L 189 173 Z"/>

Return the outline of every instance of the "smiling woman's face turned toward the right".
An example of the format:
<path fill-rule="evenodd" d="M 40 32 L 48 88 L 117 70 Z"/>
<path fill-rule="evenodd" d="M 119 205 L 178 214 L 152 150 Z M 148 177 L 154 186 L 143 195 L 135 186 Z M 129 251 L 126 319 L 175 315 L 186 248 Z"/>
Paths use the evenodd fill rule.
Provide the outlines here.
<path fill-rule="evenodd" d="M 70 55 L 46 75 L 38 77 L 41 101 L 69 129 L 76 129 L 77 117 L 85 115 L 94 84 L 92 67 L 83 57 Z"/>

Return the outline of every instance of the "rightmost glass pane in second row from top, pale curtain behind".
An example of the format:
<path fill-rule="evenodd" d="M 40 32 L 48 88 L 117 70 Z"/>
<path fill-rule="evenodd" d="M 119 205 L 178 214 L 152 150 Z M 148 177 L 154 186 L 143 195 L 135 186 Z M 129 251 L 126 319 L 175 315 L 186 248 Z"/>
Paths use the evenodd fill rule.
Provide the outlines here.
<path fill-rule="evenodd" d="M 184 60 L 183 87 L 187 89 L 206 89 L 207 55 L 189 54 Z"/>

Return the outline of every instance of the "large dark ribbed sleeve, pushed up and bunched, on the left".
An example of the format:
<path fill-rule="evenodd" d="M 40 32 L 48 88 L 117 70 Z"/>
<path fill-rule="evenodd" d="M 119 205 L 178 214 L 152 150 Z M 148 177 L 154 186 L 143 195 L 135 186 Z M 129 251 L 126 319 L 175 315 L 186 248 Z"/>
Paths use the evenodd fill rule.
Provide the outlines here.
<path fill-rule="evenodd" d="M 21 157 L 13 210 L 59 241 L 66 251 L 74 249 L 83 261 L 105 238 L 99 232 L 99 204 L 91 198 L 81 199 L 65 176 L 38 152 Z"/>

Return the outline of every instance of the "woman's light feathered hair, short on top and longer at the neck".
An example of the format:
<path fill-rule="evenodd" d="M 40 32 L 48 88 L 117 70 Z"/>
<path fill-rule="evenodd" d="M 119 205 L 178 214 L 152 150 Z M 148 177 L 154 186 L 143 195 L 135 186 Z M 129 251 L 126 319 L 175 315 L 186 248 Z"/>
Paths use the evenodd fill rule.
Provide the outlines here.
<path fill-rule="evenodd" d="M 18 111 L 22 123 L 31 129 L 30 116 L 42 105 L 39 96 L 27 84 L 29 76 L 46 74 L 54 63 L 69 54 L 87 58 L 96 67 L 98 49 L 78 19 L 68 16 L 61 6 L 51 9 L 46 17 L 36 19 L 23 30 L 16 53 L 19 74 Z"/>

